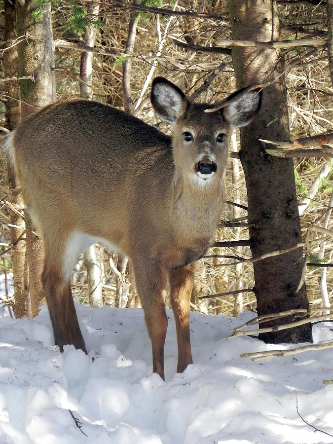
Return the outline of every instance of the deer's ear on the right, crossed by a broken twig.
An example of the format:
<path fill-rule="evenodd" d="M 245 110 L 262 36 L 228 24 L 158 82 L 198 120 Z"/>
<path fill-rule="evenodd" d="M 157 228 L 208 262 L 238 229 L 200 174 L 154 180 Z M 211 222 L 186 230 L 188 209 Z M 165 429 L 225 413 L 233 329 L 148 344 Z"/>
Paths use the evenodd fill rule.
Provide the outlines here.
<path fill-rule="evenodd" d="M 228 97 L 226 102 L 230 103 L 223 107 L 223 115 L 232 128 L 248 125 L 261 106 L 261 90 L 255 89 L 246 94 L 243 91 L 239 90 Z"/>

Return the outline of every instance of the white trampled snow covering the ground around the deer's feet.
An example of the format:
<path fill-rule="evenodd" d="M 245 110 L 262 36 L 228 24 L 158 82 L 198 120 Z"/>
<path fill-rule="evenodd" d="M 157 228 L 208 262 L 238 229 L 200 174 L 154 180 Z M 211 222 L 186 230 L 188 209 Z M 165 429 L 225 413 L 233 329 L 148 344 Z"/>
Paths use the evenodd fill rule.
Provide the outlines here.
<path fill-rule="evenodd" d="M 193 312 L 194 364 L 177 374 L 168 310 L 164 382 L 141 309 L 75 306 L 88 356 L 53 345 L 46 306 L 33 320 L 0 317 L 0 444 L 333 443 L 332 350 L 252 362 L 240 354 L 290 345 L 227 339 L 253 313 Z M 331 327 L 315 325 L 315 341 L 332 340 Z"/>

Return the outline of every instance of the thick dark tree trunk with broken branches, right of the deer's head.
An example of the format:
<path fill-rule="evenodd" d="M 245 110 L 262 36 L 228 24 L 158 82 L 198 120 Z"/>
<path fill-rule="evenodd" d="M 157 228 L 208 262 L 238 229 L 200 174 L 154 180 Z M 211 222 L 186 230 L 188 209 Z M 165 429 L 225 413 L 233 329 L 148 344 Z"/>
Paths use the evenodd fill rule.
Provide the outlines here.
<path fill-rule="evenodd" d="M 237 40 L 278 40 L 279 18 L 275 0 L 229 0 L 232 38 Z M 280 50 L 235 47 L 232 58 L 237 87 L 261 83 L 283 70 Z M 251 250 L 254 258 L 290 248 L 301 241 L 300 222 L 292 159 L 263 153 L 259 138 L 288 140 L 289 121 L 286 87 L 280 81 L 263 90 L 262 108 L 255 121 L 241 131 L 240 158 L 248 191 Z M 296 293 L 302 273 L 302 250 L 254 264 L 258 315 L 291 308 L 308 308 L 305 285 Z M 294 318 L 293 318 L 294 319 Z M 292 321 L 293 319 L 284 319 Z M 281 321 L 267 322 L 263 327 Z M 260 334 L 266 342 L 311 341 L 311 325 Z"/>

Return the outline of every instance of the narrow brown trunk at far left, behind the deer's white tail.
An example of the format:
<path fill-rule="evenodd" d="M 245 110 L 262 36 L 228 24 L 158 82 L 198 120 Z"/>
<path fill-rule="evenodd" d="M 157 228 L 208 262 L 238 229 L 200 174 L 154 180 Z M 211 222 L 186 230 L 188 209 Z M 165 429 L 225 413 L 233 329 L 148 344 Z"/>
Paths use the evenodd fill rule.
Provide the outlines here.
<path fill-rule="evenodd" d="M 7 78 L 15 77 L 18 73 L 17 47 L 11 45 L 10 40 L 15 40 L 16 34 L 16 9 L 15 1 L 4 1 L 4 23 L 3 38 L 7 43 L 5 57 L 3 58 L 4 76 Z M 5 43 L 6 44 L 6 43 Z M 21 102 L 20 86 L 18 81 L 8 82 L 9 97 L 6 103 L 6 124 L 8 129 L 14 129 L 21 121 Z M 11 263 L 13 270 L 14 287 L 14 314 L 21 318 L 26 314 L 27 293 L 24 288 L 25 277 L 25 222 L 23 218 L 22 196 L 16 189 L 16 179 L 13 168 L 8 164 L 8 184 L 10 192 L 10 201 L 13 209 L 10 214 L 10 238 L 11 238 Z"/>

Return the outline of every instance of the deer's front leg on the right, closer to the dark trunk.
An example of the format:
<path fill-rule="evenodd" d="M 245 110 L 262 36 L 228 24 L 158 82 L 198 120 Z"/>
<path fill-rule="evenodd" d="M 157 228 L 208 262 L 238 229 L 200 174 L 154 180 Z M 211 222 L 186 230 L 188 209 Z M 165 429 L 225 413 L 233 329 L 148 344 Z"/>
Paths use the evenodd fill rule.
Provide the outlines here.
<path fill-rule="evenodd" d="M 189 364 L 193 364 L 189 337 L 189 303 L 193 288 L 193 279 L 194 263 L 169 271 L 170 300 L 177 331 L 177 371 L 179 373 L 183 372 Z"/>

